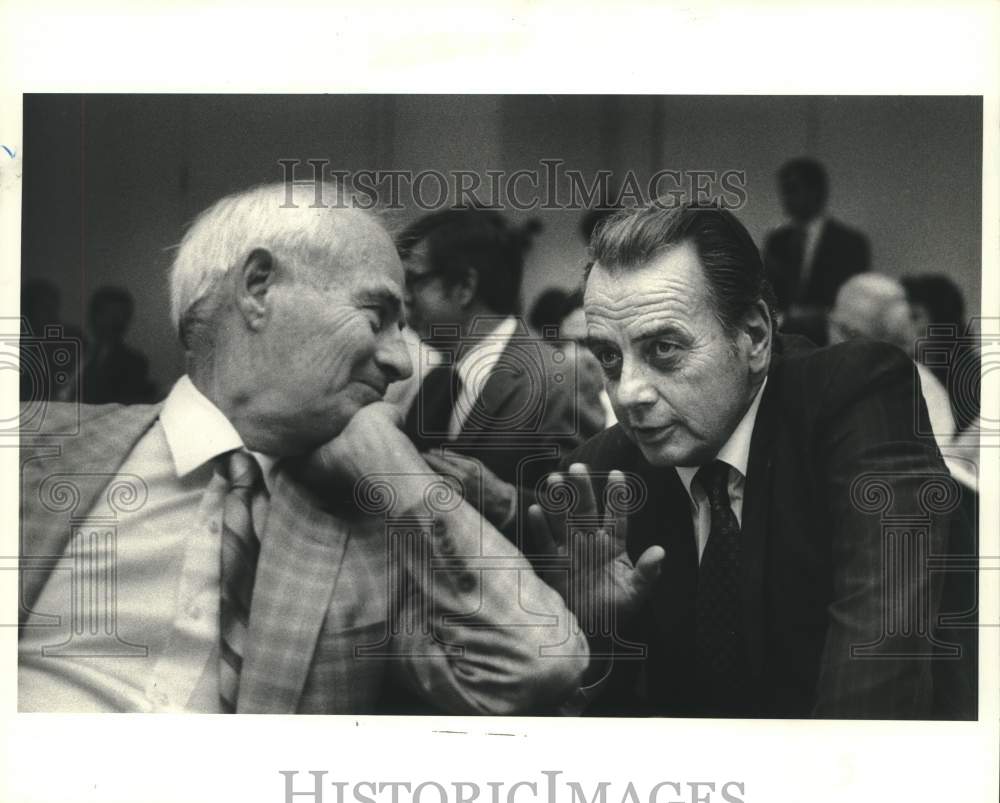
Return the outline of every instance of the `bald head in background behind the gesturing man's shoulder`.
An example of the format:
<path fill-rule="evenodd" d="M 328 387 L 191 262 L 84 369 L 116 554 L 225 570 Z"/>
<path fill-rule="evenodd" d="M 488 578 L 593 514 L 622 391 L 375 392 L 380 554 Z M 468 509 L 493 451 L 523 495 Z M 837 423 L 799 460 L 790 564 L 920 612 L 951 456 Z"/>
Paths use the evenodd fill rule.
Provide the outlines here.
<path fill-rule="evenodd" d="M 897 279 L 860 273 L 840 288 L 830 313 L 830 342 L 855 337 L 882 340 L 904 350 L 912 348 L 910 308 Z"/>

